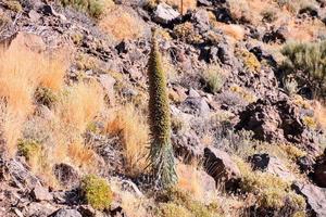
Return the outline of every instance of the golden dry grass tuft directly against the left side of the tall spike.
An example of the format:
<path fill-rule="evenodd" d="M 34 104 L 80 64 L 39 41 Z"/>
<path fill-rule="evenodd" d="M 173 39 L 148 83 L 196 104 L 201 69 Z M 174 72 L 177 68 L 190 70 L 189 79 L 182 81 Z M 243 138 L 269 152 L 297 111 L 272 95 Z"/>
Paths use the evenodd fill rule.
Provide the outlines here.
<path fill-rule="evenodd" d="M 127 104 L 112 113 L 105 131 L 111 136 L 120 136 L 126 161 L 126 170 L 130 176 L 143 171 L 148 155 L 149 129 L 145 115 Z"/>

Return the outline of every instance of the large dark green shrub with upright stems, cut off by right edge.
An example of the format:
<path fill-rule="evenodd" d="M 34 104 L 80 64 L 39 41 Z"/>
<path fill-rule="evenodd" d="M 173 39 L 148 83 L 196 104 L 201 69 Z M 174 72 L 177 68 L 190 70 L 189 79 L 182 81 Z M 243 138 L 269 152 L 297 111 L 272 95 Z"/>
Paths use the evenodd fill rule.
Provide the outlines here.
<path fill-rule="evenodd" d="M 326 41 L 291 42 L 281 53 L 287 58 L 283 63 L 285 78 L 293 76 L 298 87 L 309 87 L 314 98 L 326 98 Z"/>

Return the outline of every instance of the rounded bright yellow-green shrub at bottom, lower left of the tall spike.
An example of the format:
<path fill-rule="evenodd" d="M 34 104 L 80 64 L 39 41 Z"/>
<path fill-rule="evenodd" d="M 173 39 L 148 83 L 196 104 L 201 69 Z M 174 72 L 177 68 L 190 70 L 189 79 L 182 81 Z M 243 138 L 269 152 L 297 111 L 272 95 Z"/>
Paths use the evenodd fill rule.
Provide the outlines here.
<path fill-rule="evenodd" d="M 93 208 L 103 210 L 110 207 L 113 193 L 105 179 L 88 175 L 83 178 L 80 189 L 85 201 Z"/>

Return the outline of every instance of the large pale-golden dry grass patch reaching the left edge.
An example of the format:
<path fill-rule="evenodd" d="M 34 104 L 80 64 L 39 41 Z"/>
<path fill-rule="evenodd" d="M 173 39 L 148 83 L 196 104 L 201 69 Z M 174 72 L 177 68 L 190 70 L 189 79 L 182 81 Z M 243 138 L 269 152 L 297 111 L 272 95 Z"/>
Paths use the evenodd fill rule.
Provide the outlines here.
<path fill-rule="evenodd" d="M 24 120 L 34 111 L 34 92 L 43 85 L 57 89 L 63 80 L 66 64 L 62 59 L 34 52 L 24 44 L 0 51 L 1 128 L 7 151 L 13 156 Z"/>

